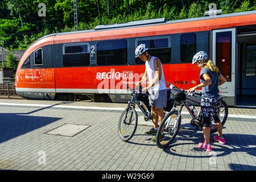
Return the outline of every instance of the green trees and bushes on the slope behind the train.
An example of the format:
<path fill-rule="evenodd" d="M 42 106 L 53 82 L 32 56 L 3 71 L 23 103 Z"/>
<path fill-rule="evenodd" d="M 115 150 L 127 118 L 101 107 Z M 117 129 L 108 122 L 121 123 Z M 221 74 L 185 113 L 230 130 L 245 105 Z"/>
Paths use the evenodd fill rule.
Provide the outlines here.
<path fill-rule="evenodd" d="M 39 17 L 39 3 L 46 17 Z M 167 20 L 204 16 L 209 3 L 222 14 L 256 10 L 256 0 L 77 0 L 79 30 L 98 24 L 163 18 Z M 54 32 L 74 31 L 73 0 L 1 0 L 0 46 L 27 49 L 35 40 Z"/>

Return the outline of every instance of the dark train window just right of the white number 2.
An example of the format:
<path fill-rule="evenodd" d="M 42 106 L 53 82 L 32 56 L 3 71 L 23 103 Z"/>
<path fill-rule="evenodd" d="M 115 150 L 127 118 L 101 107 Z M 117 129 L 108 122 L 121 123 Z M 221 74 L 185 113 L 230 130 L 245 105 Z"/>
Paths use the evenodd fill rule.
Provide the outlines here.
<path fill-rule="evenodd" d="M 123 65 L 127 63 L 127 40 L 107 40 L 97 43 L 98 65 Z"/>

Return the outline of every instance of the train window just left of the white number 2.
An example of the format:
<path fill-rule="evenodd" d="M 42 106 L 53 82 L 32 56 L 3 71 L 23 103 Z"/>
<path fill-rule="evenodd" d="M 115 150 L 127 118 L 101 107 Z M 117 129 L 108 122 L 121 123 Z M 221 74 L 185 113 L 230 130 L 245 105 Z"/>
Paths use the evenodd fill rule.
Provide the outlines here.
<path fill-rule="evenodd" d="M 90 54 L 88 44 L 64 44 L 63 45 L 63 65 L 64 67 L 88 66 L 90 64 Z"/>

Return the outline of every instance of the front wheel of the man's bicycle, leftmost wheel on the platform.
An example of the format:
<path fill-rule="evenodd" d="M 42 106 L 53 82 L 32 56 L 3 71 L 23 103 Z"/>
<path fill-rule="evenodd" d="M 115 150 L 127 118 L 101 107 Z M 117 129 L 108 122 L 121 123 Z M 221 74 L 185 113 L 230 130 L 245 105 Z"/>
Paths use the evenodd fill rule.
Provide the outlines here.
<path fill-rule="evenodd" d="M 123 111 L 118 124 L 118 134 L 121 140 L 128 141 L 133 137 L 138 125 L 138 115 L 131 106 Z"/>

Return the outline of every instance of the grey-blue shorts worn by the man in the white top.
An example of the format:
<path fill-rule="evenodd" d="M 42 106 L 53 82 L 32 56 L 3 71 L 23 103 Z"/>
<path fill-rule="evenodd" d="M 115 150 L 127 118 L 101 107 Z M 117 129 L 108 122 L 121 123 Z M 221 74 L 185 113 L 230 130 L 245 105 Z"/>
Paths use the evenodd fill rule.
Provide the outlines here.
<path fill-rule="evenodd" d="M 149 105 L 156 108 L 164 108 L 167 105 L 167 90 L 152 90 L 148 97 Z"/>

